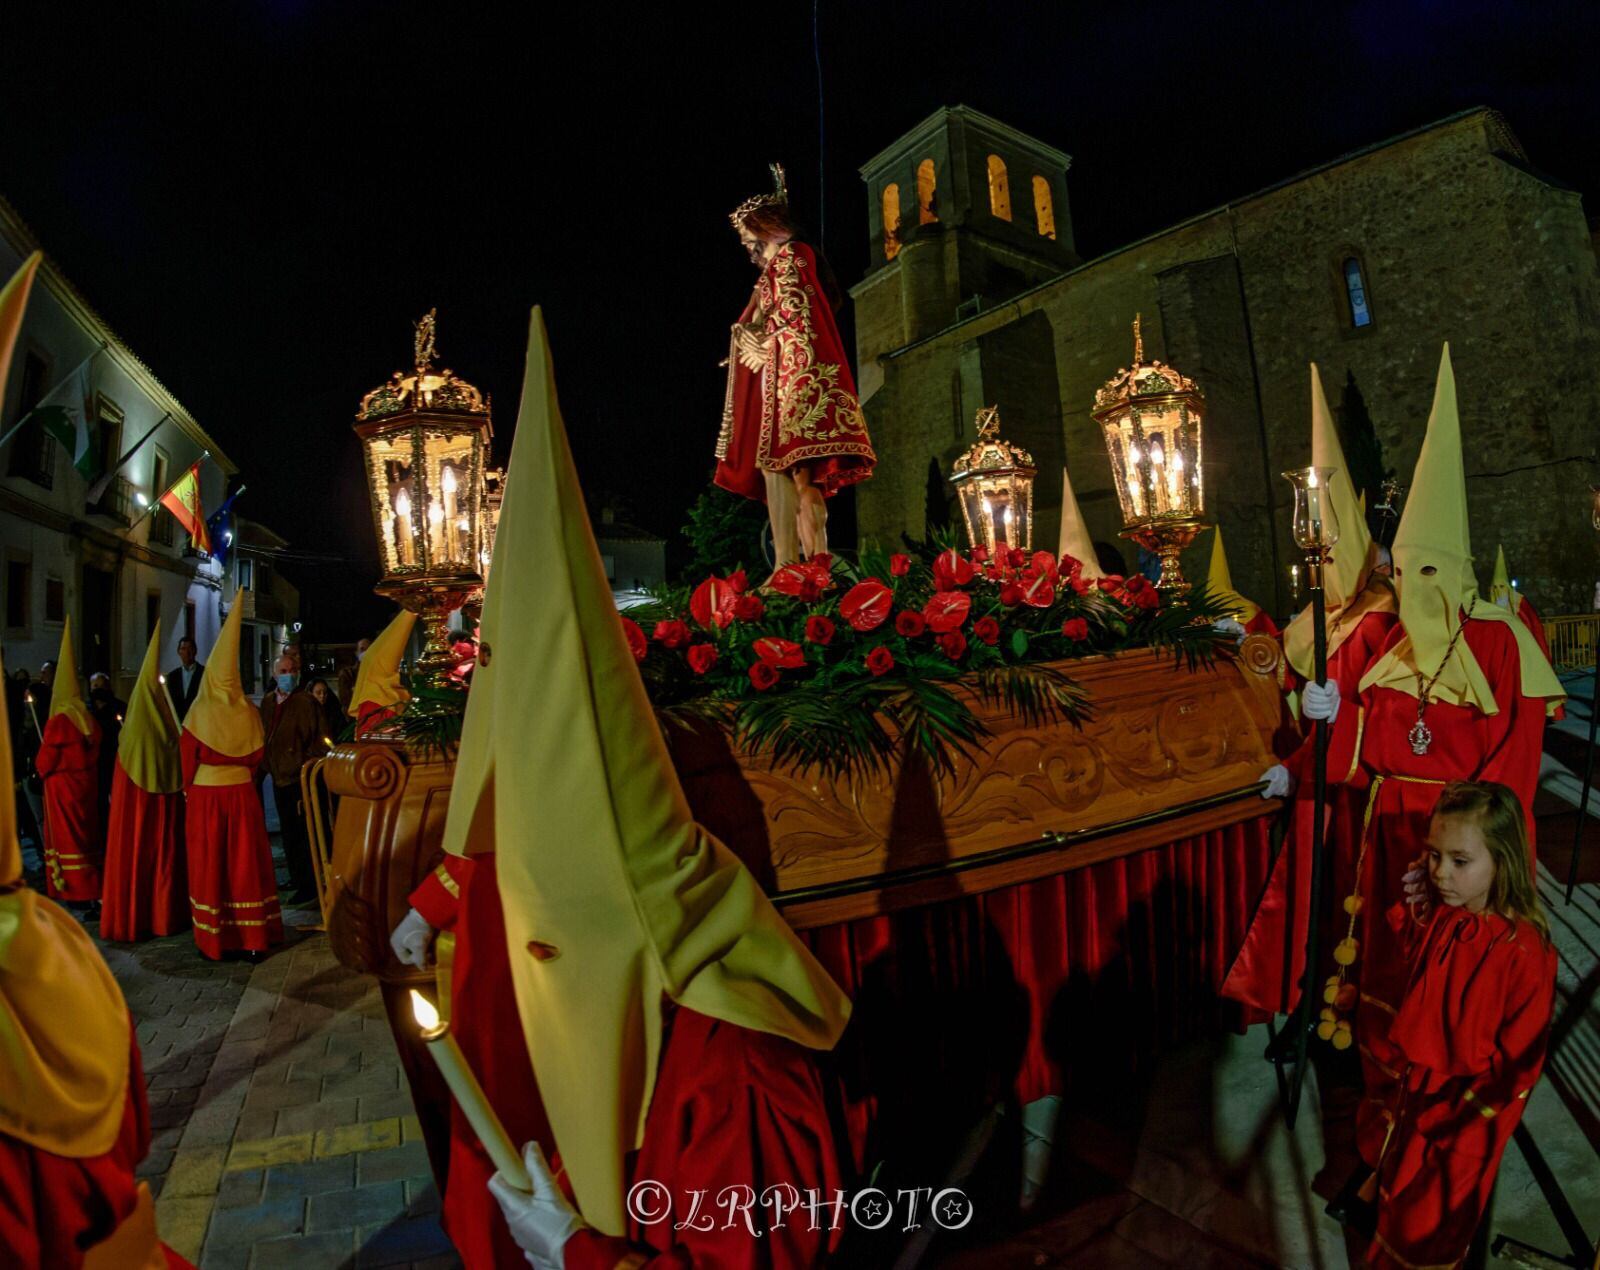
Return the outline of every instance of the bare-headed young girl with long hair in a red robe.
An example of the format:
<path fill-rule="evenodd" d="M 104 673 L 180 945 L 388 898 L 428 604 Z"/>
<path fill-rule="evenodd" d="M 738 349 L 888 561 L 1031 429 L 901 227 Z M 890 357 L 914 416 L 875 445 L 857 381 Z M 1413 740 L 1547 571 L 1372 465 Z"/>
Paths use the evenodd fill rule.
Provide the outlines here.
<path fill-rule="evenodd" d="M 1501 1153 L 1544 1067 L 1555 950 L 1523 808 L 1506 785 L 1446 785 L 1427 832 L 1430 886 L 1387 920 L 1410 949 L 1389 1030 L 1400 1081 L 1378 1166 L 1376 1270 L 1461 1262 Z M 1427 915 L 1427 910 L 1438 907 Z"/>

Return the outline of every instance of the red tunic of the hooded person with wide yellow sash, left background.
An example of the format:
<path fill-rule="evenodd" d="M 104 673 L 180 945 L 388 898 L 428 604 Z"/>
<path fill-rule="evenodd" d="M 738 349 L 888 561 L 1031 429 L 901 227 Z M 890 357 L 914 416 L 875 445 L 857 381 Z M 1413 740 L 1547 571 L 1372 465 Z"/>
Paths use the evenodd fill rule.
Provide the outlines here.
<path fill-rule="evenodd" d="M 189 909 L 195 945 L 213 961 L 226 952 L 266 952 L 283 942 L 278 881 L 272 870 L 267 819 L 253 781 L 237 785 L 198 785 L 202 766 L 248 768 L 261 763 L 261 750 L 232 757 L 184 733 L 187 816 L 184 837 L 189 856 Z"/>

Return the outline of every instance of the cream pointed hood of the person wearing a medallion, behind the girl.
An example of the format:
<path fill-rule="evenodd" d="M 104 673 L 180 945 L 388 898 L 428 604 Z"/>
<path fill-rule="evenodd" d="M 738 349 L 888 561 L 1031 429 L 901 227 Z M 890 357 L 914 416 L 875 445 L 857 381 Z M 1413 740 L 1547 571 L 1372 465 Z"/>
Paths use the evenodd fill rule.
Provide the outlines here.
<path fill-rule="evenodd" d="M 1478 595 L 1467 533 L 1467 478 L 1461 457 L 1461 417 L 1456 411 L 1456 374 L 1450 345 L 1438 363 L 1434 409 L 1411 475 L 1394 541 L 1395 589 L 1400 593 L 1403 638 L 1362 677 L 1362 688 L 1382 685 L 1418 696 L 1429 685 L 1432 701 L 1475 705 L 1486 715 L 1499 710 L 1467 641 L 1458 638 L 1461 614 L 1474 621 L 1507 622 L 1517 637 L 1522 693 L 1528 697 L 1565 696 L 1549 659 L 1528 629 L 1499 605 Z"/>

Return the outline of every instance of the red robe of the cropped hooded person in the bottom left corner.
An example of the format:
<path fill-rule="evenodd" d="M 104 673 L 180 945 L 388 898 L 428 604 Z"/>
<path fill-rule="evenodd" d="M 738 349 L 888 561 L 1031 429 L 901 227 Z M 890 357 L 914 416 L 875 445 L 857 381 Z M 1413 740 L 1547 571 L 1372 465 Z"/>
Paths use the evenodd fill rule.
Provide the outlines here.
<path fill-rule="evenodd" d="M 74 729 L 77 731 L 77 729 Z M 0 1264 L 14 1270 L 77 1270 L 134 1209 L 134 1169 L 150 1148 L 139 1046 L 128 1064 L 122 1131 L 106 1155 L 74 1160 L 0 1134 Z M 163 1249 L 170 1267 L 187 1267 Z"/>

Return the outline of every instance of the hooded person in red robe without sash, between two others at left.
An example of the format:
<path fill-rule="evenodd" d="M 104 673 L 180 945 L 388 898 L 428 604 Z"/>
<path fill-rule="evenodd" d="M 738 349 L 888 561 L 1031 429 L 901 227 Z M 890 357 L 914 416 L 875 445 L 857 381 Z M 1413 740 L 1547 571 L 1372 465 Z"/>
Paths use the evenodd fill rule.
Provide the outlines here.
<path fill-rule="evenodd" d="M 149 939 L 189 925 L 184 774 L 178 717 L 157 664 L 160 645 L 157 622 L 117 742 L 101 939 Z"/>

